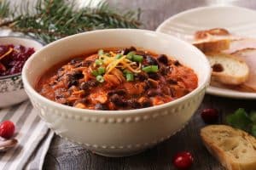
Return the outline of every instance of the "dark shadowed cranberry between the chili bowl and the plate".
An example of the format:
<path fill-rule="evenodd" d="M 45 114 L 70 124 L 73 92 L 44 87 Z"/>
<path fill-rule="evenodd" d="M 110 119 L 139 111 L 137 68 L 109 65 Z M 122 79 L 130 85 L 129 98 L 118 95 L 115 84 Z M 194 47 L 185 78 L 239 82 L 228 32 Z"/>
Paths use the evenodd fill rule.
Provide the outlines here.
<path fill-rule="evenodd" d="M 218 110 L 210 108 L 204 109 L 201 111 L 201 118 L 208 124 L 218 122 Z"/>

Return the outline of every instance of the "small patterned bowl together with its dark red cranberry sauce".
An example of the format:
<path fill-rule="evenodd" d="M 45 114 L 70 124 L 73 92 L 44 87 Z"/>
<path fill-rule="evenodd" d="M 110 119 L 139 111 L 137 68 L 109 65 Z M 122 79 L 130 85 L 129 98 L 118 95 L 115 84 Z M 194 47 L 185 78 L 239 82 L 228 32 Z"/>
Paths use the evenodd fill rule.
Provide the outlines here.
<path fill-rule="evenodd" d="M 23 65 L 43 44 L 25 37 L 0 37 L 0 108 L 27 99 L 21 81 Z"/>

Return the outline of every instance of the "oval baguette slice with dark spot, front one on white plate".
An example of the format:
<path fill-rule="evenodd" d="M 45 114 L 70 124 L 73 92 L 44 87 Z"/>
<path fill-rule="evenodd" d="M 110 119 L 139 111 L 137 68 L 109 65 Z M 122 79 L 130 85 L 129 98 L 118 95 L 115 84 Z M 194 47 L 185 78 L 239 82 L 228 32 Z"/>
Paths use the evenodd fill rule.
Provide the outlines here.
<path fill-rule="evenodd" d="M 212 66 L 212 80 L 224 84 L 238 85 L 247 81 L 249 68 L 245 61 L 235 55 L 208 53 Z"/>

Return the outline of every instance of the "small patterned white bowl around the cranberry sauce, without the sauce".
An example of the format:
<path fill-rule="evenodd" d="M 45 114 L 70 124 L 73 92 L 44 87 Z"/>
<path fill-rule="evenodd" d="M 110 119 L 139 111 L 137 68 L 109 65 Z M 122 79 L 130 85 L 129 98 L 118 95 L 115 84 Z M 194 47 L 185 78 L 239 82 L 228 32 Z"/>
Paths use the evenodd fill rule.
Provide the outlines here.
<path fill-rule="evenodd" d="M 38 50 L 43 45 L 25 37 L 0 37 L 0 45 L 23 45 L 27 48 Z M 27 99 L 27 95 L 21 81 L 21 73 L 0 77 L 0 108 L 15 105 Z"/>

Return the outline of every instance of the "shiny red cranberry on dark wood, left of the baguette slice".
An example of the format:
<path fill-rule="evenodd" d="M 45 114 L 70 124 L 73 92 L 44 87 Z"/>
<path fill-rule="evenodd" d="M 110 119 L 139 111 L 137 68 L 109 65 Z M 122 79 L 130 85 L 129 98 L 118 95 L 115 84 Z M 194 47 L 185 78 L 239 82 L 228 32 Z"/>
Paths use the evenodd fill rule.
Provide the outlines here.
<path fill-rule="evenodd" d="M 177 169 L 189 169 L 193 163 L 193 156 L 188 151 L 178 152 L 172 162 Z"/>

